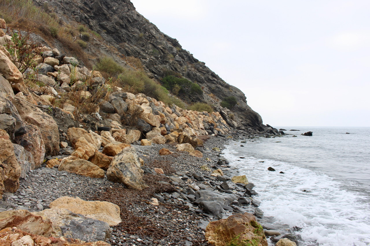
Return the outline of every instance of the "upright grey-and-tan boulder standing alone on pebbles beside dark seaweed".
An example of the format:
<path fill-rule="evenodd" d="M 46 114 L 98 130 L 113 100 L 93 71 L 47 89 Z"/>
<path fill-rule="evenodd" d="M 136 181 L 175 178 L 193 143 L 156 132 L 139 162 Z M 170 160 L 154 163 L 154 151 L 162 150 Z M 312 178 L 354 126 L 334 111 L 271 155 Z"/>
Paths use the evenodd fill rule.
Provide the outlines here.
<path fill-rule="evenodd" d="M 126 147 L 113 158 L 107 178 L 112 182 L 123 183 L 128 188 L 141 190 L 148 187 L 142 180 L 143 174 L 135 148 Z"/>

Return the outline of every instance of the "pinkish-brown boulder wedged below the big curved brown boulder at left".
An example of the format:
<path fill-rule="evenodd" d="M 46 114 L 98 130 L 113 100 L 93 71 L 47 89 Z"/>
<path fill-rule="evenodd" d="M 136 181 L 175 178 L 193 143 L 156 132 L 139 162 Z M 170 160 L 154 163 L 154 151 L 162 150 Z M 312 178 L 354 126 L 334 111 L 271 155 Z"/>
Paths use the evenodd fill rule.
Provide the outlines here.
<path fill-rule="evenodd" d="M 41 131 L 37 126 L 26 123 L 26 131 L 26 134 L 17 136 L 14 141 L 32 154 L 34 165 L 31 166 L 31 169 L 34 170 L 40 167 L 44 161 L 45 144 L 41 138 Z"/>

